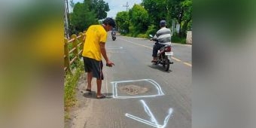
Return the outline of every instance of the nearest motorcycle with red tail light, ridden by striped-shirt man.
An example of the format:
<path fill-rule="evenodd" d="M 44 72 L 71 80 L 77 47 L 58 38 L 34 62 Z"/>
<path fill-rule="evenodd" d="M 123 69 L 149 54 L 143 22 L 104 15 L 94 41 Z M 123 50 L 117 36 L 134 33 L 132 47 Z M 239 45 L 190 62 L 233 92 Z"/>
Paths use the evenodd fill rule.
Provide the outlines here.
<path fill-rule="evenodd" d="M 150 40 L 157 41 L 157 39 L 153 39 L 152 35 L 150 36 Z M 161 47 L 160 50 L 157 51 L 157 62 L 154 62 L 154 65 L 161 64 L 163 65 L 163 68 L 165 71 L 169 71 L 170 64 L 173 64 L 172 62 L 172 46 L 171 45 L 165 45 L 164 47 Z"/>

